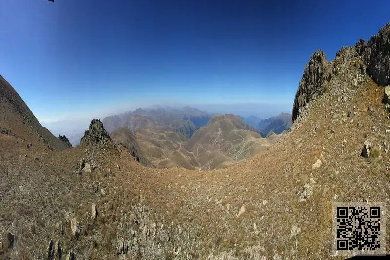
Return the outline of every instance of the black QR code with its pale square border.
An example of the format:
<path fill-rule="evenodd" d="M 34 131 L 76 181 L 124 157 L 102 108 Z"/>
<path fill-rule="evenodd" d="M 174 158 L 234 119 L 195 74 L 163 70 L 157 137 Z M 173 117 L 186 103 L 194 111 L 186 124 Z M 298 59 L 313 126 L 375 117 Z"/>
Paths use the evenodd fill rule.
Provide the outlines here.
<path fill-rule="evenodd" d="M 384 202 L 332 202 L 333 255 L 382 255 L 386 246 Z"/>

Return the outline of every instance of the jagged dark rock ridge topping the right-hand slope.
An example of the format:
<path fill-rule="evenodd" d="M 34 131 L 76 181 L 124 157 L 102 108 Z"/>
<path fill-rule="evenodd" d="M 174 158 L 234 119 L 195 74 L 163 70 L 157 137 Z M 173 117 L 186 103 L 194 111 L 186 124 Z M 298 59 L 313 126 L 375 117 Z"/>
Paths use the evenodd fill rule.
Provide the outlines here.
<path fill-rule="evenodd" d="M 356 69 L 359 72 L 353 75 Z M 314 52 L 305 66 L 295 94 L 292 122 L 327 88 L 337 87 L 335 82 L 339 83 L 342 77 L 352 76 L 352 82 L 356 85 L 359 74 L 370 76 L 379 86 L 390 84 L 390 23 L 370 37 L 368 43 L 361 39 L 353 47 L 342 47 L 331 62 L 327 62 L 323 51 Z M 337 76 L 340 80 L 332 80 Z"/>

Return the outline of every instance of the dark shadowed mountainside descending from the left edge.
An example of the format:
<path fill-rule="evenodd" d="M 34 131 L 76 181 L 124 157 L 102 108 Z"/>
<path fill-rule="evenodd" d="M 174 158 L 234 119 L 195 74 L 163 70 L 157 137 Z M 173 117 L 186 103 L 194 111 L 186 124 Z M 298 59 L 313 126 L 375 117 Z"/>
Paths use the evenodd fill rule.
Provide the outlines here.
<path fill-rule="evenodd" d="M 39 123 L 20 95 L 0 75 L 0 129 L 23 138 L 27 143 L 42 143 L 49 149 L 68 149 L 67 143 L 55 137 Z"/>

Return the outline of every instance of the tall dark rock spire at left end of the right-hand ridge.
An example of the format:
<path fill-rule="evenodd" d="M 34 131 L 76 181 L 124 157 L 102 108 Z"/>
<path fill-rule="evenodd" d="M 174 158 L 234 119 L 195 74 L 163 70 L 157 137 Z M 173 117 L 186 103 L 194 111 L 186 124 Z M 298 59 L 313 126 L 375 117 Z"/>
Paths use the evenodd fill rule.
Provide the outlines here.
<path fill-rule="evenodd" d="M 306 64 L 302 79 L 299 82 L 292 106 L 292 122 L 298 118 L 302 108 L 325 92 L 328 77 L 329 66 L 325 53 L 322 50 L 317 50 L 310 58 L 309 63 Z"/>

